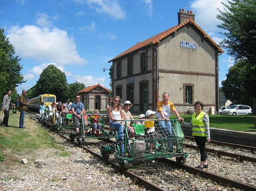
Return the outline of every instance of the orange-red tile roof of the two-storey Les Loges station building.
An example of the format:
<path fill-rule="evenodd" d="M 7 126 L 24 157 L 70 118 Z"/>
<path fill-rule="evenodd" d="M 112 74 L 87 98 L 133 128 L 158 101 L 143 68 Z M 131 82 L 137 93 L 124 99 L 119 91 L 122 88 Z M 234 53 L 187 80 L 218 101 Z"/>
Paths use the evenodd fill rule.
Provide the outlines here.
<path fill-rule="evenodd" d="M 164 39 L 165 37 L 169 36 L 170 34 L 172 34 L 173 32 L 177 31 L 178 29 L 182 28 L 183 26 L 185 26 L 186 24 L 188 23 L 192 23 L 194 24 L 198 29 L 199 31 L 201 31 L 205 37 L 210 40 L 210 42 L 213 43 L 214 46 L 216 46 L 216 48 L 219 50 L 219 52 L 222 52 L 224 53 L 224 51 L 208 36 L 208 34 L 206 34 L 205 31 L 203 31 L 203 29 L 201 29 L 196 23 L 195 21 L 193 21 L 192 18 L 189 18 L 187 21 L 184 21 L 183 23 L 181 24 L 178 24 L 176 26 L 173 26 L 172 28 L 170 29 L 167 29 L 163 32 L 160 32 L 159 34 L 156 34 L 155 36 L 152 36 L 146 40 L 143 40 L 142 42 L 138 42 L 137 44 L 133 45 L 132 47 L 130 47 L 129 49 L 125 50 L 124 52 L 122 52 L 121 54 L 117 55 L 116 57 L 112 58 L 111 60 L 109 60 L 108 62 L 112 62 L 113 60 L 116 60 L 117 58 L 119 57 L 122 57 L 128 53 L 131 53 L 135 50 L 138 50 L 138 49 L 141 49 L 142 47 L 145 47 L 147 45 L 150 45 L 150 44 L 156 44 L 158 42 L 160 42 L 160 40 Z"/>

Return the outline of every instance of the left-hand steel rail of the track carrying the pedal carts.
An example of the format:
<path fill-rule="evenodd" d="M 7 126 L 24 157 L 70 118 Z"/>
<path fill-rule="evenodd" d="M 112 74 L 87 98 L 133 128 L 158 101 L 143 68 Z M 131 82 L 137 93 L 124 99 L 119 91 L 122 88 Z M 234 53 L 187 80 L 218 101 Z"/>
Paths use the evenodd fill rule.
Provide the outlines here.
<path fill-rule="evenodd" d="M 70 138 L 65 136 L 64 134 L 62 133 L 59 133 L 57 132 L 61 137 L 69 140 Z M 79 145 L 77 142 L 74 142 L 75 144 Z M 94 151 L 92 151 L 91 149 L 89 149 L 88 147 L 86 146 L 83 146 L 83 145 L 79 145 L 80 147 L 82 147 L 84 150 L 88 151 L 89 153 L 91 153 L 93 156 L 96 156 L 98 157 L 99 159 L 109 163 L 112 165 L 112 168 L 116 169 L 118 172 L 122 173 L 123 175 L 131 178 L 133 181 L 136 181 L 138 184 L 140 185 L 144 185 L 147 189 L 149 190 L 156 190 L 156 191 L 165 191 L 165 189 L 163 188 L 160 188 L 159 186 L 145 180 L 144 178 L 138 176 L 138 175 L 135 175 L 134 173 L 130 172 L 129 170 L 123 170 L 119 165 L 117 165 L 116 163 L 114 162 L 111 162 L 110 160 L 106 160 L 106 159 L 103 159 L 102 156 L 100 154 L 97 154 L 95 153 Z"/>

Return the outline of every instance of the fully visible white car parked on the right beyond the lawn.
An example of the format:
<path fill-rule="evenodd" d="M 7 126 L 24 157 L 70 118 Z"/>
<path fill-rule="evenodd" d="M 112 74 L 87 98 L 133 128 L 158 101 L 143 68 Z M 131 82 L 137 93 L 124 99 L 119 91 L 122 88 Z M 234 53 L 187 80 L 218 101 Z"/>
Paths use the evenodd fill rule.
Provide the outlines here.
<path fill-rule="evenodd" d="M 222 111 L 222 115 L 249 115 L 251 114 L 251 107 L 248 105 L 231 105 Z"/>

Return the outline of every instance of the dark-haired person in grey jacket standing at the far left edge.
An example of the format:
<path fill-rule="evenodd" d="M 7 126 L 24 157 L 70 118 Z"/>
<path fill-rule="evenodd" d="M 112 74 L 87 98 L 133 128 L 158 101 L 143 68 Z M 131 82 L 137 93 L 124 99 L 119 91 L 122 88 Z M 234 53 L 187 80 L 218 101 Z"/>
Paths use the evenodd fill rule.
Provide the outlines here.
<path fill-rule="evenodd" d="M 1 126 L 4 127 L 8 127 L 8 121 L 9 121 L 9 110 L 12 109 L 12 99 L 11 99 L 11 94 L 12 91 L 11 89 L 7 90 L 7 94 L 5 96 L 3 96 L 3 102 L 2 102 L 2 110 L 3 113 L 5 114 L 5 117 L 3 118 L 3 123 L 1 123 Z"/>

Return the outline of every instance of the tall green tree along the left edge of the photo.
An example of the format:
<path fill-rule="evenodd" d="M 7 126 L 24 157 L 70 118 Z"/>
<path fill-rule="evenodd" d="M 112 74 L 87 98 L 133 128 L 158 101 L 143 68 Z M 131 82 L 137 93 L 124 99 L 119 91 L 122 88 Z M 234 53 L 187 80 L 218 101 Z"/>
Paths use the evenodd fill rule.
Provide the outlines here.
<path fill-rule="evenodd" d="M 21 58 L 15 56 L 15 50 L 9 38 L 4 35 L 4 29 L 0 28 L 0 95 L 5 95 L 7 90 L 11 89 L 12 100 L 17 100 L 15 87 L 26 82 L 20 73 L 23 68 L 20 61 Z M 2 104 L 2 98 L 0 104 Z"/>

